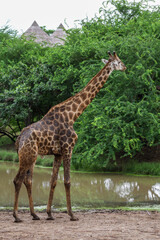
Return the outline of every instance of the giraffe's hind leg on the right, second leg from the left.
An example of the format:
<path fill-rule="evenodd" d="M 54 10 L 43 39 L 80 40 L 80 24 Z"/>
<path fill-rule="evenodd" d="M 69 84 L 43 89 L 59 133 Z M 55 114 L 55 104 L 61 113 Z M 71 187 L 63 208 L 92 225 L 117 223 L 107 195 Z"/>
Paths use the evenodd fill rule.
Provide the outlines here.
<path fill-rule="evenodd" d="M 27 189 L 30 213 L 33 216 L 33 220 L 40 220 L 40 218 L 34 212 L 34 205 L 33 205 L 33 199 L 32 199 L 33 168 L 34 168 L 34 166 L 32 165 L 32 167 L 27 171 L 23 183 L 24 183 L 24 185 L 26 186 L 26 189 Z"/>

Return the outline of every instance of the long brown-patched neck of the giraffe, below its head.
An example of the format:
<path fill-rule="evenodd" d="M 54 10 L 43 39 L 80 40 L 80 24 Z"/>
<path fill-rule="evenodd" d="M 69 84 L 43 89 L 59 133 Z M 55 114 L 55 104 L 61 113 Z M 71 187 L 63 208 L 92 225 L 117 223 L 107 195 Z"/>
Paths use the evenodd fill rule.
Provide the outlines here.
<path fill-rule="evenodd" d="M 65 122 L 73 125 L 103 87 L 112 71 L 112 62 L 109 62 L 89 81 L 86 87 L 66 101 L 52 107 L 45 117 L 48 114 L 51 116 L 52 113 L 60 112 L 66 119 Z"/>

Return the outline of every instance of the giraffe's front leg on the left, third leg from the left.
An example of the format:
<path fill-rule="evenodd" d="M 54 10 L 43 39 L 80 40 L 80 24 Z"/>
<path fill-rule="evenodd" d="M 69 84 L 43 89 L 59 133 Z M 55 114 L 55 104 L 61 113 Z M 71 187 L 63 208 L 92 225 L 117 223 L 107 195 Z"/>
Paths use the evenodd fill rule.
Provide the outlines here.
<path fill-rule="evenodd" d="M 53 163 L 53 173 L 52 173 L 52 177 L 51 177 L 51 188 L 50 188 L 48 205 L 47 205 L 47 214 L 48 214 L 47 220 L 54 220 L 52 213 L 51 213 L 51 206 L 52 206 L 54 190 L 57 185 L 58 172 L 59 172 L 59 168 L 61 166 L 61 162 L 62 162 L 62 156 L 58 156 L 58 155 L 55 156 L 55 160 Z"/>

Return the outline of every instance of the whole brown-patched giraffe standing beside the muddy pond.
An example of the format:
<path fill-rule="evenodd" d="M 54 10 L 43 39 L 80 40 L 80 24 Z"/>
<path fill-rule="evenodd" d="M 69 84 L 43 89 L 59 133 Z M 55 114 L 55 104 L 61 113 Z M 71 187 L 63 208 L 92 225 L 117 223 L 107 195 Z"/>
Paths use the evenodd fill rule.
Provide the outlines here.
<path fill-rule="evenodd" d="M 108 60 L 102 59 L 105 66 L 79 93 L 53 106 L 41 120 L 24 128 L 17 138 L 16 148 L 19 156 L 19 170 L 13 181 L 15 185 L 13 211 L 15 222 L 21 222 L 18 217 L 18 196 L 22 183 L 24 183 L 27 189 L 30 214 L 33 216 L 33 220 L 40 219 L 34 212 L 32 200 L 32 175 L 38 154 L 55 156 L 47 204 L 47 219 L 54 219 L 51 213 L 51 205 L 58 171 L 63 161 L 67 212 L 70 220 L 78 220 L 72 212 L 70 197 L 70 161 L 74 145 L 78 138 L 73 129 L 73 124 L 95 98 L 111 72 L 113 70 L 125 71 L 126 69 L 115 52 L 113 52 L 113 55 L 110 52 L 108 54 Z"/>

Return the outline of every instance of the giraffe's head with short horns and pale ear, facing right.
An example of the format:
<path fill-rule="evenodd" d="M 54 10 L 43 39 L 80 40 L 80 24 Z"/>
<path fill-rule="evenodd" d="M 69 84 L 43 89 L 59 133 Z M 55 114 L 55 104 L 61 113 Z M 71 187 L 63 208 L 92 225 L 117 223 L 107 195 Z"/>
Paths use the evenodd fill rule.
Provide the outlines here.
<path fill-rule="evenodd" d="M 108 52 L 109 55 L 109 59 L 102 59 L 102 62 L 106 65 L 108 65 L 110 63 L 110 66 L 113 70 L 120 70 L 120 71 L 125 71 L 126 70 L 126 66 L 124 65 L 124 63 L 120 60 L 120 58 L 117 56 L 117 54 L 115 52 L 113 52 L 113 55 Z"/>

